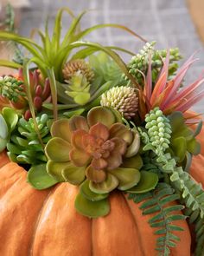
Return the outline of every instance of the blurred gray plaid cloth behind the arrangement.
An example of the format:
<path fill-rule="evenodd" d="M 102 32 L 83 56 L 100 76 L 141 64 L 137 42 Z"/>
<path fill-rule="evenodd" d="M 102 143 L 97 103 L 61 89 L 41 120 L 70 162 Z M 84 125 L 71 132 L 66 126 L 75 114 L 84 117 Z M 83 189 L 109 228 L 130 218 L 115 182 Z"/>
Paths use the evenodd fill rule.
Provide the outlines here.
<path fill-rule="evenodd" d="M 201 49 L 197 54 L 200 60 L 188 71 L 186 82 L 194 81 L 204 69 L 203 46 L 196 34 L 185 0 L 29 0 L 29 7 L 22 10 L 20 34 L 29 36 L 34 27 L 43 30 L 46 17 L 49 16 L 53 23 L 57 10 L 63 6 L 69 7 L 76 14 L 81 10 L 91 10 L 82 19 L 82 28 L 97 23 L 120 23 L 146 40 L 156 41 L 158 49 L 179 47 L 184 59 Z M 69 24 L 70 19 L 65 14 L 63 33 Z M 143 47 L 143 43 L 134 36 L 123 30 L 109 28 L 93 32 L 88 40 L 117 45 L 136 53 Z M 125 61 L 128 58 L 124 56 Z M 204 112 L 203 106 L 200 103 L 194 109 Z"/>

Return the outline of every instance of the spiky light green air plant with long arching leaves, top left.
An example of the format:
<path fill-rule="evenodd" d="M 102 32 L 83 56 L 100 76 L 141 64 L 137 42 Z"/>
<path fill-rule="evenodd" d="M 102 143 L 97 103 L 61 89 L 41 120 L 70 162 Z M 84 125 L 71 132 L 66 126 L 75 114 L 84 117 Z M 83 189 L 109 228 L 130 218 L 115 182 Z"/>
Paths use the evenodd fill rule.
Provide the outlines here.
<path fill-rule="evenodd" d="M 64 39 L 61 42 L 61 16 L 64 11 L 67 11 L 67 13 L 72 17 L 73 21 L 70 25 L 70 28 L 67 30 L 67 33 L 64 36 Z M 38 66 L 39 69 L 41 69 L 41 74 L 46 77 L 47 69 L 54 69 L 54 75 L 56 79 L 60 82 L 62 82 L 63 80 L 62 69 L 64 67 L 64 64 L 67 62 L 67 59 L 70 56 L 72 50 L 79 47 L 84 47 L 85 49 L 80 49 L 80 51 L 77 54 L 77 58 L 85 58 L 86 56 L 89 56 L 93 52 L 98 51 L 99 49 L 102 49 L 102 50 L 105 50 L 107 53 L 110 53 L 110 56 L 115 58 L 118 61 L 118 64 L 121 66 L 121 68 L 124 69 L 124 73 L 126 73 L 126 75 L 129 75 L 124 63 L 118 59 L 118 56 L 112 51 L 112 48 L 111 49 L 107 47 L 104 48 L 98 43 L 81 42 L 80 40 L 83 36 L 86 36 L 87 34 L 91 33 L 93 30 L 98 30 L 105 27 L 113 27 L 113 28 L 118 28 L 122 30 L 127 30 L 132 35 L 139 37 L 141 40 L 143 40 L 143 42 L 145 42 L 145 40 L 141 36 L 138 36 L 136 33 L 131 31 L 130 29 L 125 28 L 124 26 L 121 26 L 118 24 L 95 25 L 91 28 L 81 31 L 79 24 L 80 24 L 81 18 L 85 15 L 85 13 L 86 11 L 83 11 L 82 13 L 80 13 L 79 16 L 74 16 L 73 12 L 68 8 L 62 8 L 61 10 L 59 10 L 55 18 L 54 31 L 53 31 L 52 37 L 48 35 L 48 23 L 46 23 L 45 33 L 41 32 L 40 30 L 37 30 L 39 32 L 39 35 L 41 36 L 43 47 L 35 43 L 33 40 L 27 39 L 22 36 L 17 36 L 14 33 L 6 32 L 6 31 L 1 31 L 0 40 L 14 41 L 18 44 L 22 44 L 24 48 L 29 50 L 29 53 L 31 54 L 31 56 L 33 56 L 32 61 L 35 62 L 35 64 Z M 117 47 L 116 48 L 113 47 L 113 49 L 129 52 L 127 50 L 119 49 Z M 13 62 L 0 62 L 0 63 L 16 69 L 16 63 L 13 63 Z"/>

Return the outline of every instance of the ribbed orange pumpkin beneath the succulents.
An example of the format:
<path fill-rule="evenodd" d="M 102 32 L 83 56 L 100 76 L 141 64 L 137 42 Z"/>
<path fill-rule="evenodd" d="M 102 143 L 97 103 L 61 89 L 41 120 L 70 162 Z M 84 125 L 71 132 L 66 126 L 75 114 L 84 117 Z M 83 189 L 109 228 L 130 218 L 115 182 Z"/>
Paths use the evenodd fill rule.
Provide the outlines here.
<path fill-rule="evenodd" d="M 199 138 L 204 145 L 204 130 Z M 194 157 L 191 174 L 204 185 L 203 166 L 204 155 Z M 111 213 L 91 220 L 75 211 L 77 187 L 61 183 L 37 191 L 26 182 L 26 175 L 5 153 L 0 154 L 0 255 L 157 255 L 157 236 L 140 204 L 115 192 L 110 197 Z M 188 224 L 176 223 L 185 231 L 178 233 L 181 241 L 170 255 L 190 256 Z"/>

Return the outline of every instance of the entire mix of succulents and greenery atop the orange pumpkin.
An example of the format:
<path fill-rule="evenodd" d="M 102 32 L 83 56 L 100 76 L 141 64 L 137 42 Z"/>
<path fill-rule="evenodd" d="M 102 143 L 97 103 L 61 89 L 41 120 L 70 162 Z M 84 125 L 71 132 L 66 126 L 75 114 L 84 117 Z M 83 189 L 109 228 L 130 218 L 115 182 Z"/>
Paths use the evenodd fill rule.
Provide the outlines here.
<path fill-rule="evenodd" d="M 61 41 L 63 11 L 73 22 Z M 162 234 L 156 244 L 161 255 L 170 255 L 179 240 L 172 231 L 182 232 L 171 220 L 189 217 L 196 226 L 194 255 L 202 255 L 204 189 L 189 173 L 193 156 L 201 152 L 196 136 L 202 119 L 186 114 L 204 96 L 204 78 L 183 85 L 194 56 L 179 69 L 178 49 L 157 50 L 155 42 L 141 37 L 138 53 L 82 41 L 107 26 L 137 36 L 117 24 L 80 30 L 84 14 L 61 9 L 53 36 L 48 24 L 39 31 L 42 46 L 0 31 L 1 41 L 29 51 L 22 63 L 0 60 L 19 69 L 0 77 L 0 151 L 28 171 L 35 189 L 61 182 L 79 187 L 75 208 L 89 218 L 110 213 L 113 191 L 143 202 L 150 226 Z M 131 55 L 127 65 L 117 50 Z"/>

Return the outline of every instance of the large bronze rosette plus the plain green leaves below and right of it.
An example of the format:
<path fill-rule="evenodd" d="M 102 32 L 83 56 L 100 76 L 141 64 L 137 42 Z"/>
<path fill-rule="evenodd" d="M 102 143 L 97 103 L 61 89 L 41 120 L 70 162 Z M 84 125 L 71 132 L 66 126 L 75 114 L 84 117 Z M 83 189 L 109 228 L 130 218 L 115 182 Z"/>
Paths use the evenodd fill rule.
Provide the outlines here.
<path fill-rule="evenodd" d="M 158 181 L 156 174 L 139 171 L 139 135 L 119 116 L 112 108 L 95 107 L 86 118 L 61 119 L 51 127 L 53 138 L 45 148 L 47 172 L 55 181 L 80 185 L 75 207 L 89 217 L 109 212 L 107 197 L 115 188 L 128 191 L 139 186 L 137 193 L 143 193 Z"/>

